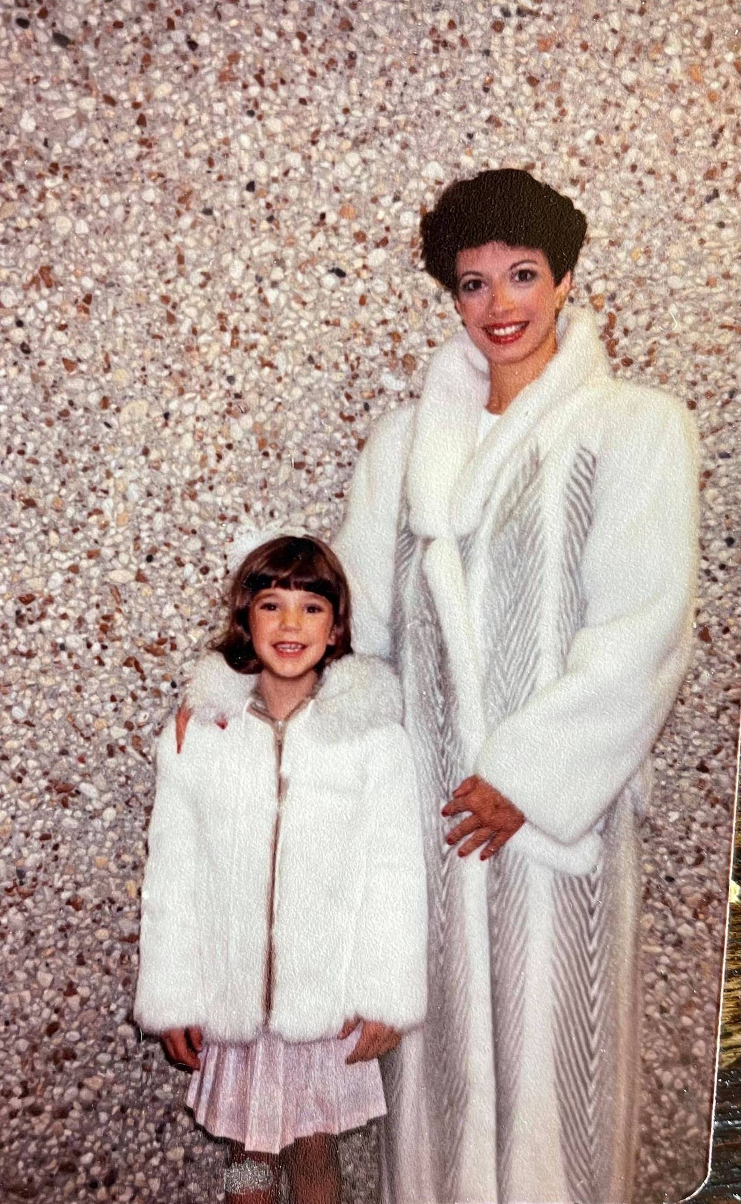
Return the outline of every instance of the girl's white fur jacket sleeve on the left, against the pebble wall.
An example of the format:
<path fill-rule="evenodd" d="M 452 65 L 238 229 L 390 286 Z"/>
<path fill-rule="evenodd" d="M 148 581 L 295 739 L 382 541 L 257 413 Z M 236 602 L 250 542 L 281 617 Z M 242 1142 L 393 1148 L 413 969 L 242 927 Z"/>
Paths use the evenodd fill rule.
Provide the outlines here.
<path fill-rule="evenodd" d="M 174 721 L 158 744 L 158 779 L 142 886 L 140 975 L 134 1015 L 147 1033 L 203 1021 L 194 874 L 195 809 L 177 759 Z"/>

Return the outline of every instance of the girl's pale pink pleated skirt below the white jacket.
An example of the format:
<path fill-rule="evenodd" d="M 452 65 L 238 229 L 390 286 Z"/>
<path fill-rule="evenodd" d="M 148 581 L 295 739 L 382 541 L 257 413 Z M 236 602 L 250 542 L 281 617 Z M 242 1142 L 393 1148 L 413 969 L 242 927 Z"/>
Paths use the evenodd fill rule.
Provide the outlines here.
<path fill-rule="evenodd" d="M 378 1060 L 345 1063 L 358 1035 L 291 1044 L 265 1029 L 249 1045 L 206 1045 L 186 1104 L 207 1132 L 255 1153 L 358 1128 L 386 1114 Z"/>

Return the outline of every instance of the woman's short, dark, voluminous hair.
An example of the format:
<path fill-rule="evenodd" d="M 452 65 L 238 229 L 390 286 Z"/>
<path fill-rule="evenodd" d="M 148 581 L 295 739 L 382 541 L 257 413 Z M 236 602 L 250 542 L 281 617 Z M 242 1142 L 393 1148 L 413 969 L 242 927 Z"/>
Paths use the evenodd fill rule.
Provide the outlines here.
<path fill-rule="evenodd" d="M 487 242 L 541 250 L 558 284 L 576 265 L 587 219 L 568 196 L 529 172 L 502 167 L 449 184 L 422 218 L 421 231 L 425 267 L 455 293 L 458 252 Z"/>

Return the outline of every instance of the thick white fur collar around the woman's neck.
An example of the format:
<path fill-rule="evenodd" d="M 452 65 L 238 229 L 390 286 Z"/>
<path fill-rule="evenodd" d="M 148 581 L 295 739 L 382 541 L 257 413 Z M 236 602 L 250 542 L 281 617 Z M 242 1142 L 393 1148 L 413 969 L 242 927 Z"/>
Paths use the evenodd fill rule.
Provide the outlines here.
<path fill-rule="evenodd" d="M 464 330 L 454 335 L 432 360 L 416 412 L 407 486 L 415 535 L 440 538 L 472 531 L 496 490 L 498 473 L 534 425 L 605 374 L 610 368 L 592 313 L 564 312 L 558 353 L 476 448 L 488 368 Z"/>

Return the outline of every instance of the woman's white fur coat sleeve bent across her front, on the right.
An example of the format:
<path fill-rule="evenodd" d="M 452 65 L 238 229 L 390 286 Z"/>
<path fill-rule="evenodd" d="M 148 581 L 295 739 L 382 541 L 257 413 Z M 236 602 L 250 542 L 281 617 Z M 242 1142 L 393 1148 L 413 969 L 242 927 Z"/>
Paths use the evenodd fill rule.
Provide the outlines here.
<path fill-rule="evenodd" d="M 538 828 L 583 836 L 648 755 L 684 675 L 696 573 L 696 435 L 674 399 L 633 388 L 599 455 L 565 672 L 500 722 L 476 772 Z"/>

